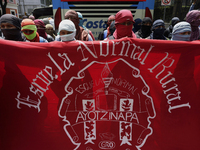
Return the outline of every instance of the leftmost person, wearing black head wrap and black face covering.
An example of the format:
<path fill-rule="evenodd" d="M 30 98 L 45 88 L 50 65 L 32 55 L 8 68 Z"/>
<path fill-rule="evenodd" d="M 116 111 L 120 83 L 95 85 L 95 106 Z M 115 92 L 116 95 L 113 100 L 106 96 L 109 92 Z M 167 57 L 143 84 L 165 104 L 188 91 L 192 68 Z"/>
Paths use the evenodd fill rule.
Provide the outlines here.
<path fill-rule="evenodd" d="M 0 18 L 1 32 L 5 40 L 26 41 L 21 32 L 20 19 L 11 14 L 5 14 Z"/>

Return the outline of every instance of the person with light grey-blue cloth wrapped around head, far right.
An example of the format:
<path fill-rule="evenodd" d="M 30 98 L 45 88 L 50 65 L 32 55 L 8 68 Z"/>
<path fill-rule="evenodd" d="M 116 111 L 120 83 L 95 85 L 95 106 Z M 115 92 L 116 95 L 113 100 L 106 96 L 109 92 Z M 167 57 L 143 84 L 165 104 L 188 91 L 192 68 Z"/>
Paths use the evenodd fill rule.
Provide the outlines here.
<path fill-rule="evenodd" d="M 188 22 L 182 21 L 177 23 L 172 31 L 173 41 L 190 41 L 191 36 L 191 26 Z"/>

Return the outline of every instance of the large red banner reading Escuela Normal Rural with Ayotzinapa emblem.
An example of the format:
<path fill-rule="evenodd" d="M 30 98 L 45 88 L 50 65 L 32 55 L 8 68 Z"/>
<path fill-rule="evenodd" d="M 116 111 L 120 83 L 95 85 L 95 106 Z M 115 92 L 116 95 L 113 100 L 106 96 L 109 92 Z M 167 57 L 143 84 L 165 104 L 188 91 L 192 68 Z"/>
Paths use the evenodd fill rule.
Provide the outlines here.
<path fill-rule="evenodd" d="M 198 150 L 199 46 L 0 40 L 0 149 Z"/>

